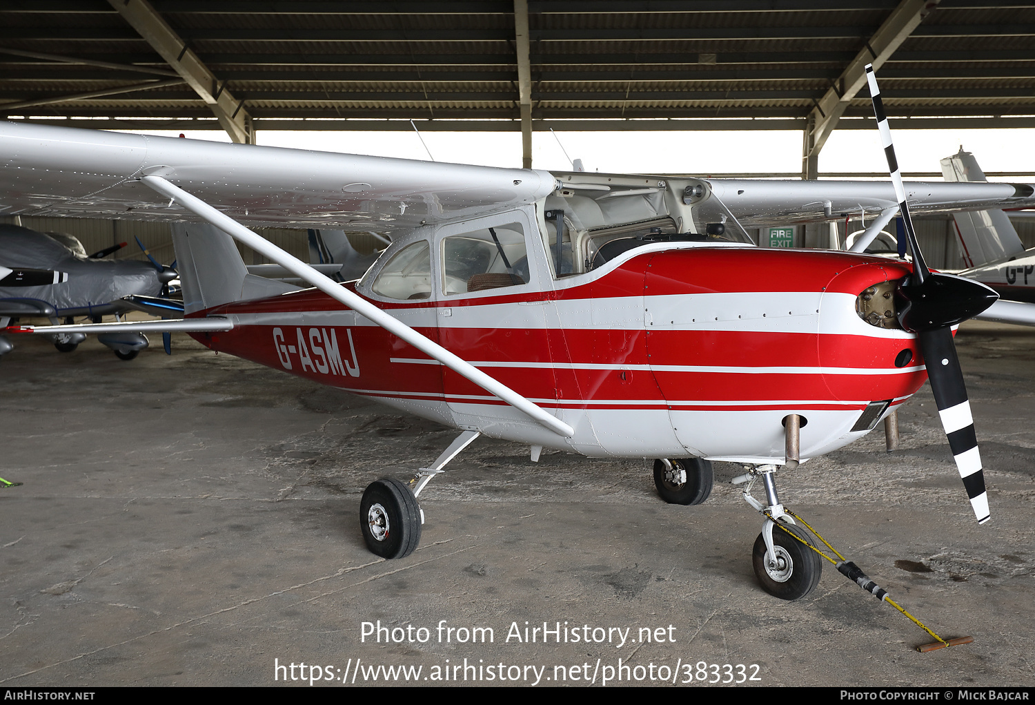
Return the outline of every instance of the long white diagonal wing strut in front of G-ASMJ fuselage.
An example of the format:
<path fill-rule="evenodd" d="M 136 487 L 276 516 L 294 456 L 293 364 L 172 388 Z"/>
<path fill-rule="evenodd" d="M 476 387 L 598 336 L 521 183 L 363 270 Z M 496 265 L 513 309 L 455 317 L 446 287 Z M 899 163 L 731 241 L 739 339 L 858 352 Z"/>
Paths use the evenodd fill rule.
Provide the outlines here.
<path fill-rule="evenodd" d="M 302 262 L 297 257 L 293 257 L 264 237 L 253 233 L 237 221 L 219 212 L 217 209 L 208 205 L 201 199 L 191 196 L 179 186 L 170 183 L 168 180 L 156 174 L 143 176 L 141 177 L 141 181 L 166 198 L 176 199 L 180 205 L 190 212 L 204 218 L 231 237 L 240 240 L 260 255 L 276 262 L 292 274 L 301 278 L 303 282 L 316 287 L 336 301 L 341 301 L 357 314 L 368 318 L 374 323 L 378 324 L 388 332 L 403 339 L 430 357 L 437 359 L 457 375 L 463 375 L 482 389 L 496 394 L 510 406 L 527 414 L 551 431 L 560 434 L 565 438 L 571 438 L 574 436 L 574 430 L 570 425 L 556 416 L 551 415 L 541 407 L 528 401 L 495 378 L 490 377 L 470 362 L 449 352 L 438 343 L 434 343 L 427 337 L 421 335 L 416 330 L 396 319 L 394 316 L 386 314 L 384 311 L 378 309 L 361 296 L 352 293 L 331 280 L 329 276 L 321 274 L 319 271 Z"/>

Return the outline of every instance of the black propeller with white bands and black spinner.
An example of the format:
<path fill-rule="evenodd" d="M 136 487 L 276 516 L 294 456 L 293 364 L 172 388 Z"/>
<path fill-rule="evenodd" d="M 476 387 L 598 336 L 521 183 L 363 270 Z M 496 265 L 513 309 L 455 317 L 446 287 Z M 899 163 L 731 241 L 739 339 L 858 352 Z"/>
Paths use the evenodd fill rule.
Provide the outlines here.
<path fill-rule="evenodd" d="M 877 87 L 873 65 L 866 66 L 866 81 L 869 94 L 874 98 L 874 114 L 881 130 L 881 142 L 888 158 L 888 171 L 895 187 L 895 198 L 901 211 L 906 237 L 913 253 L 913 274 L 903 280 L 895 291 L 898 322 L 903 328 L 917 333 L 920 351 L 927 364 L 927 379 L 935 392 L 935 404 L 942 418 L 942 428 L 949 439 L 949 447 L 955 458 L 959 476 L 967 489 L 971 506 L 978 524 L 989 519 L 988 496 L 984 489 L 984 473 L 981 470 L 981 456 L 977 449 L 974 434 L 974 419 L 964 373 L 959 369 L 956 348 L 952 342 L 952 326 L 973 318 L 990 306 L 999 295 L 990 288 L 962 276 L 931 272 L 923 261 L 917 243 L 916 231 L 906 203 L 901 171 L 891 144 L 891 129 L 884 113 L 884 104 Z"/>

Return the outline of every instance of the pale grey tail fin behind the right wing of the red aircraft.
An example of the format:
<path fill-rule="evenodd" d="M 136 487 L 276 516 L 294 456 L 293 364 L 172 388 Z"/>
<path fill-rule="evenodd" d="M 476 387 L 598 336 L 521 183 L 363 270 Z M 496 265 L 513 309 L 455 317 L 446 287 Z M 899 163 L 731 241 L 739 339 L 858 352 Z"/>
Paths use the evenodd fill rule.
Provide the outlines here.
<path fill-rule="evenodd" d="M 941 161 L 946 181 L 987 181 L 977 159 L 963 146 L 952 156 Z M 956 234 L 964 251 L 967 267 L 979 267 L 988 262 L 1005 260 L 1025 251 L 1017 231 L 999 208 L 953 213 Z"/>

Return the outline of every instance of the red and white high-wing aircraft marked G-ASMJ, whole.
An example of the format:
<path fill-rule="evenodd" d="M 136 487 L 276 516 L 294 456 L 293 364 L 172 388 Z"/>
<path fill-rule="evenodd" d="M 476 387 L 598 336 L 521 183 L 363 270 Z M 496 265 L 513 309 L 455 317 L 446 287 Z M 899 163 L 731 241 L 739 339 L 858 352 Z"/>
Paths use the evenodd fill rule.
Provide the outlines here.
<path fill-rule="evenodd" d="M 528 444 L 533 461 L 544 447 L 657 459 L 659 494 L 681 504 L 707 499 L 710 461 L 750 466 L 744 498 L 765 516 L 756 574 L 795 599 L 821 565 L 788 533 L 807 540 L 777 467 L 864 436 L 927 377 L 988 519 L 951 329 L 996 294 L 929 271 L 909 210 L 1028 206 L 1030 184 L 904 186 L 894 167 L 893 184 L 552 174 L 11 123 L 0 155 L 13 212 L 179 224 L 184 319 L 72 329 L 189 331 L 461 431 L 410 483 L 366 488 L 359 524 L 380 556 L 416 548 L 417 497 L 486 435 Z M 915 264 L 762 249 L 743 229 L 860 205 L 901 211 Z M 391 244 L 342 284 L 245 223 L 388 232 Z M 229 236 L 312 288 L 249 274 Z"/>

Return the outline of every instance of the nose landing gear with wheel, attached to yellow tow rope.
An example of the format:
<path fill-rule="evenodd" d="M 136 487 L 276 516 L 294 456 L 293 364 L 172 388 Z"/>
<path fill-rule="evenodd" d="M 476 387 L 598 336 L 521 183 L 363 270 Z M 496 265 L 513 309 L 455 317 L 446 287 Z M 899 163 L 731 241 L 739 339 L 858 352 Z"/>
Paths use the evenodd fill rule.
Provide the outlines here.
<path fill-rule="evenodd" d="M 762 589 L 780 599 L 800 599 L 819 585 L 823 563 L 820 555 L 809 548 L 812 544 L 808 535 L 783 510 L 773 480 L 775 471 L 774 465 L 761 465 L 746 475 L 735 477 L 734 483 L 748 482 L 744 501 L 766 516 L 751 552 L 755 576 Z M 751 487 L 759 477 L 766 491 L 765 505 L 751 496 Z"/>

